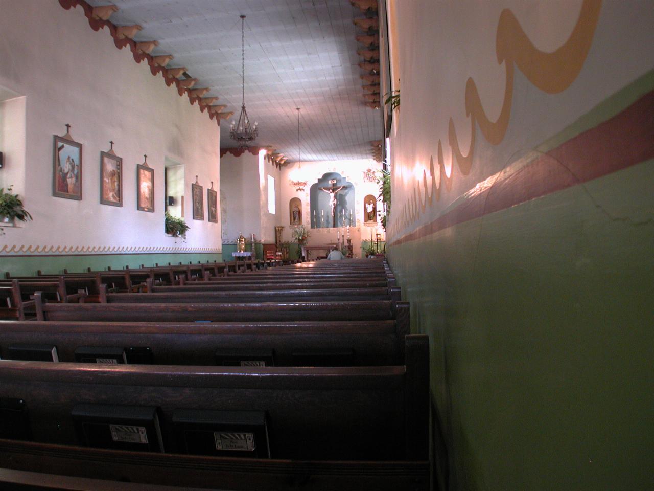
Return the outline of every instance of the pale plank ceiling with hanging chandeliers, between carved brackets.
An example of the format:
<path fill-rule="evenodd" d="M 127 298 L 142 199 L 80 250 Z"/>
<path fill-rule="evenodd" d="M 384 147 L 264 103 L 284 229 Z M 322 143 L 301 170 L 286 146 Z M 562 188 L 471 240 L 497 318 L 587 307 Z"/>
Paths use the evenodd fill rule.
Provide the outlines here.
<path fill-rule="evenodd" d="M 369 158 L 382 139 L 379 109 L 362 98 L 356 54 L 364 16 L 349 0 L 88 0 L 114 3 L 118 26 L 140 24 L 135 41 L 159 41 L 150 54 L 172 54 L 238 118 L 241 110 L 241 19 L 245 14 L 245 105 L 259 123 L 256 145 L 272 145 L 289 162 Z M 162 82 L 163 83 L 163 82 Z M 221 122 L 220 145 L 234 147 Z"/>

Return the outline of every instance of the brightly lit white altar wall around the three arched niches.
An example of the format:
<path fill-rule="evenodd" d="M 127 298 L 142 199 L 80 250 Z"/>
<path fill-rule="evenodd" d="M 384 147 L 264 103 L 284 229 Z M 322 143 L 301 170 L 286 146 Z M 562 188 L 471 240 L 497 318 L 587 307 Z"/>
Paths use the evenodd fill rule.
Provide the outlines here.
<path fill-rule="evenodd" d="M 375 182 L 365 181 L 364 172 L 372 169 L 379 173 L 381 164 L 375 160 L 339 160 L 335 162 L 302 162 L 301 166 L 295 162 L 288 164 L 281 169 L 281 206 L 278 210 L 281 223 L 284 226 L 282 238 L 285 242 L 294 242 L 291 237 L 292 228 L 290 225 L 290 213 L 288 203 L 292 198 L 300 198 L 302 202 L 302 222 L 306 227 L 311 226 L 309 203 L 309 188 L 316 183 L 322 174 L 326 172 L 338 172 L 347 181 L 353 183 L 356 197 L 356 209 L 353 209 L 354 221 L 356 225 L 350 229 L 350 238 L 353 244 L 353 253 L 355 256 L 360 254 L 362 240 L 370 240 L 372 234 L 373 240 L 375 233 L 379 232 L 382 238 L 385 236 L 384 229 L 379 225 L 377 227 L 368 227 L 364 225 L 364 206 L 363 199 L 366 195 L 379 195 L 379 185 Z M 290 185 L 290 181 L 307 181 L 304 191 L 296 191 L 295 187 Z M 377 211 L 381 211 L 381 202 L 377 202 Z M 336 243 L 339 234 L 345 234 L 347 238 L 347 227 L 343 228 L 312 228 L 311 235 L 307 241 L 309 245 L 324 245 Z"/>

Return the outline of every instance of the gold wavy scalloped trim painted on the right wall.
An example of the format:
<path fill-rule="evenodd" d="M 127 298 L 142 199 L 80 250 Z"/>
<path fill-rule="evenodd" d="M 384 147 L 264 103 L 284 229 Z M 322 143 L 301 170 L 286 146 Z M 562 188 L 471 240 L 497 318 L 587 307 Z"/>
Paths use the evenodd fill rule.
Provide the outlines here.
<path fill-rule="evenodd" d="M 434 156 L 430 157 L 430 174 L 427 177 L 426 171 L 422 172 L 422 188 L 418 181 L 413 187 L 413 196 L 402 204 L 401 211 L 392 219 L 389 227 L 389 237 L 395 238 L 411 223 L 415 223 L 421 213 L 426 210 L 434 201 L 440 199 L 441 188 L 449 191 L 452 188 L 454 177 L 454 160 L 462 175 L 468 175 L 472 169 L 476 128 L 479 124 L 481 134 L 491 145 L 499 145 L 509 126 L 511 118 L 511 103 L 513 101 L 513 83 L 515 66 L 525 75 L 536 88 L 547 94 L 562 92 L 577 78 L 588 52 L 593 44 L 593 37 L 600 17 L 602 0 L 584 0 L 581 4 L 581 11 L 577 23 L 572 29 L 568 40 L 554 52 L 543 52 L 534 46 L 534 43 L 527 37 L 520 26 L 515 14 L 509 9 L 502 10 L 498 22 L 496 34 L 496 55 L 498 64 L 504 62 L 506 66 L 506 85 L 504 90 L 504 102 L 500 116 L 491 121 L 484 110 L 483 103 L 477 91 L 477 85 L 472 78 L 466 82 L 465 100 L 466 114 L 470 116 L 470 148 L 464 154 L 459 146 L 458 137 L 453 118 L 449 118 L 448 143 L 452 149 L 453 162 L 449 177 L 445 172 L 443 159 L 443 143 L 438 140 L 437 162 L 438 170 L 434 168 Z M 438 185 L 436 184 L 436 172 L 439 175 Z M 429 192 L 431 191 L 431 192 Z M 411 192 L 409 191 L 409 194 Z M 422 194 L 424 193 L 424 199 Z"/>

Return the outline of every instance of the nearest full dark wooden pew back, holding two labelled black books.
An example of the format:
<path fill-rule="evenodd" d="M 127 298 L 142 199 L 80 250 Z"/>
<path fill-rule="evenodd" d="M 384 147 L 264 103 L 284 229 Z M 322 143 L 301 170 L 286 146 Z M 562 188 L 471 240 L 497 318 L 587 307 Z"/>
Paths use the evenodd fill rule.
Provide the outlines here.
<path fill-rule="evenodd" d="M 0 397 L 25 401 L 34 441 L 0 441 L 0 467 L 186 488 L 427 490 L 426 336 L 405 350 L 393 367 L 3 361 Z M 77 446 L 78 403 L 157 407 L 166 453 Z M 265 411 L 271 458 L 180 455 L 173 411 L 198 408 Z"/>

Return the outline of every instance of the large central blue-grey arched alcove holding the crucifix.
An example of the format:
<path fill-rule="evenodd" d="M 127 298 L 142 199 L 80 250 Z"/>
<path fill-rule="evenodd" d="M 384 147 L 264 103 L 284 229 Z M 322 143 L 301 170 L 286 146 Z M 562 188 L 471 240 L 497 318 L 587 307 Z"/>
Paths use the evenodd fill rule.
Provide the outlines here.
<path fill-rule="evenodd" d="M 332 192 L 336 202 L 334 203 L 334 215 L 332 217 Z M 311 228 L 347 227 L 356 225 L 354 223 L 354 212 L 356 210 L 356 198 L 354 185 L 337 172 L 326 172 L 311 185 L 309 190 L 311 203 Z"/>

